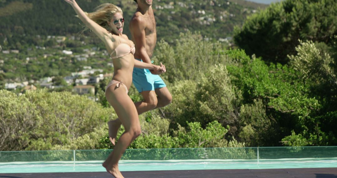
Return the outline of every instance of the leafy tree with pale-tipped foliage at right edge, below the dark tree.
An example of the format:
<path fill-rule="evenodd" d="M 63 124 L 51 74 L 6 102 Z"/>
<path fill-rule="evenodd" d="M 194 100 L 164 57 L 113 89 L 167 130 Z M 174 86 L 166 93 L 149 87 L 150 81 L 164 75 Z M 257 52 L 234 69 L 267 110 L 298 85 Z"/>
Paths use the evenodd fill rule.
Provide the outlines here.
<path fill-rule="evenodd" d="M 336 108 L 332 107 L 336 104 L 335 60 L 327 53 L 321 54 L 312 41 L 300 41 L 296 51 L 296 56 L 289 56 L 290 64 L 299 71 L 299 78 L 308 85 L 308 93 L 318 99 L 321 107 L 307 119 L 310 122 L 305 127 L 293 130 L 282 143 L 287 146 L 335 144 L 336 132 L 332 127 L 337 121 Z"/>

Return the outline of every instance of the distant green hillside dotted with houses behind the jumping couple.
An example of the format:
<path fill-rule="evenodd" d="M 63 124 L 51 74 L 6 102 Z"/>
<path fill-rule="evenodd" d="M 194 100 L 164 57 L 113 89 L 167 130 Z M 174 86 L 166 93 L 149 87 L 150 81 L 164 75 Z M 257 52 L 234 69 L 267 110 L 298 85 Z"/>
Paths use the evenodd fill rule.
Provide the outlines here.
<path fill-rule="evenodd" d="M 111 1 L 77 2 L 90 12 Z M 124 33 L 130 37 L 128 24 L 136 3 L 114 3 L 123 9 Z M 155 0 L 157 38 L 173 43 L 181 32 L 200 32 L 205 39 L 228 46 L 234 26 L 241 26 L 246 16 L 264 7 L 243 0 Z M 69 76 L 84 66 L 110 71 L 104 44 L 90 32 L 78 37 L 81 29 L 74 10 L 63 0 L 0 0 L 0 88 L 6 82 Z"/>

